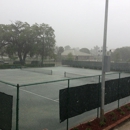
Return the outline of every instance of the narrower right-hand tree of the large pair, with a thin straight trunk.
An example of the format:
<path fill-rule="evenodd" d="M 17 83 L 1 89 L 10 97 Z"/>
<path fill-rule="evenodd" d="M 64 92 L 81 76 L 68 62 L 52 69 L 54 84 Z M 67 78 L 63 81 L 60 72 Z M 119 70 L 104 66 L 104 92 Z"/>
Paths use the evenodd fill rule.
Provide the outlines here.
<path fill-rule="evenodd" d="M 55 47 L 55 35 L 52 27 L 47 24 L 34 24 L 32 26 L 35 34 L 35 45 L 37 45 L 37 53 L 41 56 L 41 61 L 43 64 L 43 59 L 54 56 Z"/>

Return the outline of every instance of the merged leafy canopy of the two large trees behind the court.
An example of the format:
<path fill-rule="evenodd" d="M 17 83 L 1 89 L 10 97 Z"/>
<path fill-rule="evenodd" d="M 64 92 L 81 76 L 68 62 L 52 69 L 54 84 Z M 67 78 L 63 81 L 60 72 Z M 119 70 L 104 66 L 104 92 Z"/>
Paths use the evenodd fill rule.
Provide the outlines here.
<path fill-rule="evenodd" d="M 52 57 L 54 54 L 54 30 L 48 24 L 33 24 L 16 21 L 9 25 L 0 25 L 0 49 L 4 48 L 11 57 L 17 55 L 20 63 L 24 64 L 27 55 L 35 54 Z"/>

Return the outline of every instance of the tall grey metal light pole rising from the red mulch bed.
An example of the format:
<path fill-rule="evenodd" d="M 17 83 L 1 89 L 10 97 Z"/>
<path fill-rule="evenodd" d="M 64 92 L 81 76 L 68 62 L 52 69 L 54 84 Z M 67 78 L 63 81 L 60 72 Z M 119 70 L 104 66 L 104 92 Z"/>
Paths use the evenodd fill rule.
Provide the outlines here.
<path fill-rule="evenodd" d="M 105 99 L 105 56 L 106 56 L 106 41 L 107 41 L 107 18 L 108 18 L 108 0 L 105 6 L 104 20 L 104 38 L 103 38 L 103 55 L 102 55 L 102 87 L 101 87 L 101 115 L 100 118 L 104 121 L 104 99 Z"/>

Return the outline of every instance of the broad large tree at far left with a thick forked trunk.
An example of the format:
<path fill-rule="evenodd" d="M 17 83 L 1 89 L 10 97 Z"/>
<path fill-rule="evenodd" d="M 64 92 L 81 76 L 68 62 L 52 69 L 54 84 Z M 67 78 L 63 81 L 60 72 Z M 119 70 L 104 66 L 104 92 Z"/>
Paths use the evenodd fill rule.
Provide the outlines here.
<path fill-rule="evenodd" d="M 14 24 L 0 27 L 3 29 L 1 47 L 7 48 L 6 53 L 9 57 L 17 54 L 21 64 L 24 64 L 33 42 L 30 25 L 26 22 L 16 21 Z"/>

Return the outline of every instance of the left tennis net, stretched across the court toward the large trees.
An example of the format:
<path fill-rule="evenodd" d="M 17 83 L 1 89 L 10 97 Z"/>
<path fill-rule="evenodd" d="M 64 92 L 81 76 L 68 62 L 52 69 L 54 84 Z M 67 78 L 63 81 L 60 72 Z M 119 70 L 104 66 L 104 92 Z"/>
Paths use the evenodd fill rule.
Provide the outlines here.
<path fill-rule="evenodd" d="M 21 70 L 52 75 L 52 70 L 47 70 L 42 68 L 21 68 Z"/>

